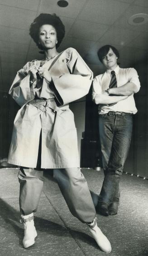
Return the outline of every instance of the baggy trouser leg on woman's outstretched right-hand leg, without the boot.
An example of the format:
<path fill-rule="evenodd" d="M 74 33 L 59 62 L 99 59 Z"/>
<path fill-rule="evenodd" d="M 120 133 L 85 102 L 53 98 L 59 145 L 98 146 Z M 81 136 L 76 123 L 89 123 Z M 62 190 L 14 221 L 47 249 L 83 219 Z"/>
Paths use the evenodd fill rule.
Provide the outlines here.
<path fill-rule="evenodd" d="M 79 168 L 54 169 L 53 177 L 57 180 L 67 206 L 81 222 L 93 222 L 95 207 L 87 182 Z"/>

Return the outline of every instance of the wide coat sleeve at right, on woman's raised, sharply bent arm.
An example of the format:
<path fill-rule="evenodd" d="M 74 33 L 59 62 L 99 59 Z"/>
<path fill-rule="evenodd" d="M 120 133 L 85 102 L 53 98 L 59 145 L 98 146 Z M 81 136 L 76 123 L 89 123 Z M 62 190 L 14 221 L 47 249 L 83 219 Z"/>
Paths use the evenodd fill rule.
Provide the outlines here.
<path fill-rule="evenodd" d="M 67 49 L 67 74 L 52 77 L 55 96 L 60 105 L 70 103 L 88 94 L 93 73 L 73 48 Z"/>

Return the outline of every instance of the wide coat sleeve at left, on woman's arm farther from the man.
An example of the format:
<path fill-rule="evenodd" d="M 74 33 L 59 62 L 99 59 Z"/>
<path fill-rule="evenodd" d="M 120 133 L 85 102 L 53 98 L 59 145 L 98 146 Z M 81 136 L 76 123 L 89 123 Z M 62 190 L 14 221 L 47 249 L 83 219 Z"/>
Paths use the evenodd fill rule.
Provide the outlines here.
<path fill-rule="evenodd" d="M 12 96 L 12 98 L 14 98 L 16 103 L 19 104 L 19 106 L 23 106 L 25 103 L 29 102 L 31 99 L 34 98 L 33 89 L 36 86 L 36 82 L 34 82 L 32 86 L 30 86 L 29 66 L 30 62 L 28 62 L 23 67 L 23 69 L 20 69 L 17 72 L 9 91 L 9 94 Z"/>

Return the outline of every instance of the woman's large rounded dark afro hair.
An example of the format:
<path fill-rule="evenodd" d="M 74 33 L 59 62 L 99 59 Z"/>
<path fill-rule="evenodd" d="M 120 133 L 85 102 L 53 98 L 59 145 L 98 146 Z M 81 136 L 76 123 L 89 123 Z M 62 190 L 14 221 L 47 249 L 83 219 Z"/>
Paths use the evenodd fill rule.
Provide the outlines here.
<path fill-rule="evenodd" d="M 30 25 L 30 36 L 33 38 L 34 42 L 37 44 L 39 49 L 43 49 L 42 45 L 38 43 L 39 41 L 39 29 L 42 25 L 52 25 L 56 32 L 57 32 L 57 44 L 56 48 L 59 47 L 59 45 L 62 42 L 62 39 L 65 35 L 65 26 L 62 23 L 62 20 L 56 15 L 56 14 L 47 14 L 47 13 L 41 13 L 35 20 L 33 20 L 33 23 Z"/>

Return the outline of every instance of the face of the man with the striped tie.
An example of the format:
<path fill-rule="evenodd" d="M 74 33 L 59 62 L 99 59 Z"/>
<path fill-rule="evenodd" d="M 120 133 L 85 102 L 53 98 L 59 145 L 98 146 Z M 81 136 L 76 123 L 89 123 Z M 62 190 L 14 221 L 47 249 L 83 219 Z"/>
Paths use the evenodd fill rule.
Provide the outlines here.
<path fill-rule="evenodd" d="M 115 69 L 117 66 L 117 56 L 113 52 L 113 50 L 110 48 L 108 51 L 108 54 L 106 54 L 103 59 L 102 63 L 105 65 L 106 69 Z"/>

